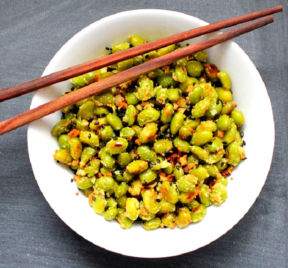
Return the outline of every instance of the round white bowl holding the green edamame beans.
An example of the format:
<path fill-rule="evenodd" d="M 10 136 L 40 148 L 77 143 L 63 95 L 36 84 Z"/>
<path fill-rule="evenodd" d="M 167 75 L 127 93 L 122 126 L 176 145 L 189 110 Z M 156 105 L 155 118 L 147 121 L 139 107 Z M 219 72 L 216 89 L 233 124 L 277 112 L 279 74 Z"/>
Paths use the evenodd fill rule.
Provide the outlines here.
<path fill-rule="evenodd" d="M 206 24 L 174 11 L 148 9 L 118 13 L 96 21 L 71 38 L 52 58 L 43 75 L 106 55 L 106 46 L 123 42 L 132 34 L 154 40 Z M 203 38 L 195 38 L 193 42 Z M 250 209 L 271 165 L 274 123 L 270 99 L 254 64 L 235 42 L 217 45 L 206 53 L 209 62 L 229 73 L 237 109 L 246 118 L 242 130 L 248 159 L 234 170 L 234 179 L 229 179 L 228 199 L 220 207 L 209 207 L 202 222 L 184 229 L 147 231 L 139 225 L 120 229 L 116 221 L 107 222 L 95 214 L 82 194 L 76 196 L 76 184 L 70 182 L 73 173 L 53 160 L 58 144 L 50 131 L 61 117 L 61 112 L 57 112 L 29 125 L 28 149 L 40 190 L 72 230 L 95 245 L 120 254 L 168 257 L 208 245 L 230 230 Z M 67 81 L 37 91 L 31 108 L 61 96 L 70 87 Z"/>

